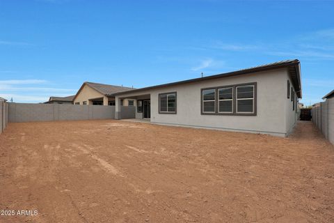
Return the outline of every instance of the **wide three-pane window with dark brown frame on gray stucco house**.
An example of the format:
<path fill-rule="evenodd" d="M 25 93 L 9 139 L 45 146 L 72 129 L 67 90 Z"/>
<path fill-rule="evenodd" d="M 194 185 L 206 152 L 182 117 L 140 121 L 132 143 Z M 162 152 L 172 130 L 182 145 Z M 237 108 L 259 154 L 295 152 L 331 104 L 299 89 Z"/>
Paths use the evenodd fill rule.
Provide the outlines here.
<path fill-rule="evenodd" d="M 201 99 L 201 114 L 256 116 L 256 82 L 201 89 Z"/>

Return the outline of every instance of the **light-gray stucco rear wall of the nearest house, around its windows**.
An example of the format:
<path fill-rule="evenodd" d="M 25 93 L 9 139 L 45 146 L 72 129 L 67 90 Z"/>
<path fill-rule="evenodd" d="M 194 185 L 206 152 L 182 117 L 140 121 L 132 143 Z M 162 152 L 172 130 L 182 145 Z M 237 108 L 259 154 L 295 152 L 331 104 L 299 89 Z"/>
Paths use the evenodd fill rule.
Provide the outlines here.
<path fill-rule="evenodd" d="M 215 116 L 200 114 L 200 89 L 250 82 L 257 82 L 257 116 Z M 159 114 L 159 93 L 173 91 L 177 92 L 177 114 Z M 152 123 L 244 132 L 262 132 L 284 137 L 287 134 L 287 122 L 290 122 L 286 121 L 286 69 L 170 86 L 163 89 L 137 92 L 136 94 L 150 94 L 150 120 Z M 118 95 L 118 98 L 130 98 L 132 95 L 134 93 L 124 93 Z"/>

